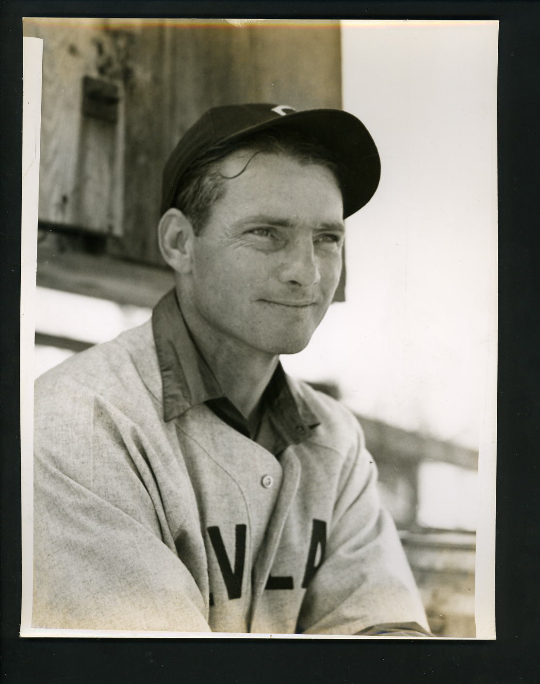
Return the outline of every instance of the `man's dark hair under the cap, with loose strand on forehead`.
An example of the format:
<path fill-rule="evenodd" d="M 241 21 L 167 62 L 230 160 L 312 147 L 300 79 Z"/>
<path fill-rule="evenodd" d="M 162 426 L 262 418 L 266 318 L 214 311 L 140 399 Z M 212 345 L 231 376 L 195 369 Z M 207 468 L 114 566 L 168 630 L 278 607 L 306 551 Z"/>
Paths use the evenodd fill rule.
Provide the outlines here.
<path fill-rule="evenodd" d="M 249 150 L 245 166 L 235 176 L 224 176 L 219 171 L 219 161 L 237 150 Z M 301 164 L 320 164 L 334 174 L 340 185 L 340 169 L 332 155 L 317 140 L 295 131 L 267 130 L 253 133 L 242 140 L 218 144 L 191 163 L 180 179 L 173 207 L 183 212 L 191 222 L 195 235 L 206 225 L 214 202 L 225 193 L 225 181 L 237 178 L 258 153 L 291 157 Z"/>

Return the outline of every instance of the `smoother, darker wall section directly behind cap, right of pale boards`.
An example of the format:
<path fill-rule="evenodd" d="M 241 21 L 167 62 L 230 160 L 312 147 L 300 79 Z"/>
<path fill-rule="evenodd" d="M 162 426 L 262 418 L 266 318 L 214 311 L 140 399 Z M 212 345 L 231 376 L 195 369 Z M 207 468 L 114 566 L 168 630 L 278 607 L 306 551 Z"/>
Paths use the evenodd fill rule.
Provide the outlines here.
<path fill-rule="evenodd" d="M 137 29 L 133 41 L 139 57 L 126 83 L 126 240 L 117 254 L 157 264 L 161 174 L 183 133 L 209 107 L 232 103 L 340 107 L 340 34 L 338 23 L 172 22 Z"/>

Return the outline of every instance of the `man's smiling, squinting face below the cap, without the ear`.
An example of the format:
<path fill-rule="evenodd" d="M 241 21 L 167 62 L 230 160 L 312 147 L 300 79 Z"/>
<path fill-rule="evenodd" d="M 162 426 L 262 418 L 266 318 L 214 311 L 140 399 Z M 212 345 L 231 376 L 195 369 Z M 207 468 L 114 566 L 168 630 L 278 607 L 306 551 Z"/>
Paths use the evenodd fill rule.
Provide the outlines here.
<path fill-rule="evenodd" d="M 226 191 L 193 238 L 187 304 L 217 341 L 295 354 L 338 284 L 342 197 L 324 166 L 252 157 L 239 151 L 221 162 Z"/>

